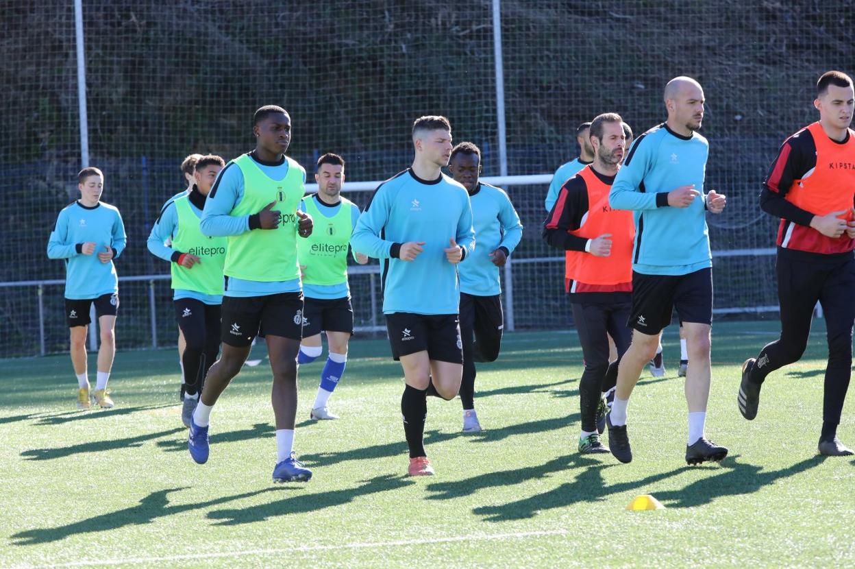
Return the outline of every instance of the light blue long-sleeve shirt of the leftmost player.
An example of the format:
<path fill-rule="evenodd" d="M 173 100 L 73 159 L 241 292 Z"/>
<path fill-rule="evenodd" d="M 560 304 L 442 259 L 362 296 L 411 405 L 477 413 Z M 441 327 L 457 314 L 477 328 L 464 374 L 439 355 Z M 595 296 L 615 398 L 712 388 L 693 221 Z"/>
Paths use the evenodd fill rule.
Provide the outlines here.
<path fill-rule="evenodd" d="M 95 243 L 95 251 L 84 255 L 81 246 L 89 241 Z M 90 208 L 78 201 L 60 211 L 48 240 L 48 257 L 65 259 L 65 298 L 97 299 L 118 293 L 113 260 L 102 263 L 97 254 L 113 249 L 114 259 L 118 258 L 126 243 L 125 225 L 113 205 L 98 202 Z"/>

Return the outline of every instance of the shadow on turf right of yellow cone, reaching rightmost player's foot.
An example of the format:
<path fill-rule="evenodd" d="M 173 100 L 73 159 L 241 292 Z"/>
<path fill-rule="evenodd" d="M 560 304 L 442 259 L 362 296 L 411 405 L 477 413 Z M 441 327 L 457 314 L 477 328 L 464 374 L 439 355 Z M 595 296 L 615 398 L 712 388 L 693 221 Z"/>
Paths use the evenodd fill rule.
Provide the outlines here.
<path fill-rule="evenodd" d="M 721 474 L 705 477 L 690 483 L 680 490 L 657 492 L 656 497 L 667 507 L 694 507 L 709 504 L 716 498 L 752 494 L 762 488 L 769 488 L 782 478 L 787 478 L 808 471 L 828 457 L 813 456 L 787 468 L 777 471 L 764 471 L 763 466 L 739 462 L 739 454 L 733 460 L 722 462 L 722 468 L 727 469 Z"/>

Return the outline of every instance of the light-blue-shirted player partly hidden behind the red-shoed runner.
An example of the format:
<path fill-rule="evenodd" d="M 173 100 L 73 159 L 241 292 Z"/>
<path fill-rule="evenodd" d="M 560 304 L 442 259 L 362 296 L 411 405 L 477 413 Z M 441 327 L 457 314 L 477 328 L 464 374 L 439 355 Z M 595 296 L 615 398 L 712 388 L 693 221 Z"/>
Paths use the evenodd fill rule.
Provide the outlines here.
<path fill-rule="evenodd" d="M 472 226 L 478 246 L 466 263 L 458 265 L 460 278 L 460 335 L 463 339 L 463 432 L 481 431 L 475 413 L 475 362 L 498 358 L 504 329 L 502 287 L 498 269 L 522 238 L 520 216 L 503 189 L 479 181 L 481 150 L 461 142 L 451 150 L 448 170 L 469 193 Z"/>

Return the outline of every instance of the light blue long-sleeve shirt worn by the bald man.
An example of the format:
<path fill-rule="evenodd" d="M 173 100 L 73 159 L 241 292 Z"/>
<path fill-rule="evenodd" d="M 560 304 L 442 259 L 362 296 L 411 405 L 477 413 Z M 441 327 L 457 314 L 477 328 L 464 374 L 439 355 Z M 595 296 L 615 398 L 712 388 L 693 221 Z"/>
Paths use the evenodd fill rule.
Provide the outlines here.
<path fill-rule="evenodd" d="M 665 124 L 642 134 L 629 149 L 609 204 L 635 212 L 636 272 L 687 275 L 712 266 L 704 195 L 709 151 L 699 133 L 681 136 Z M 687 208 L 670 207 L 668 193 L 691 184 L 701 195 Z"/>

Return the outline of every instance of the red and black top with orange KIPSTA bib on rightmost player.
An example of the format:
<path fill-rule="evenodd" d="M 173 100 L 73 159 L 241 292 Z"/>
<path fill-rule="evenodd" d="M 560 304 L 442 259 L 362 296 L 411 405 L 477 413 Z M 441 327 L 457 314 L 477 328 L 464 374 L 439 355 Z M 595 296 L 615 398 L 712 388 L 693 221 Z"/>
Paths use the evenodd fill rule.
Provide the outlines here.
<path fill-rule="evenodd" d="M 781 249 L 823 255 L 850 252 L 855 240 L 846 234 L 827 237 L 811 228 L 813 216 L 847 210 L 855 204 L 855 138 L 828 138 L 819 122 L 802 128 L 781 145 L 760 195 L 764 211 L 781 217 Z"/>

